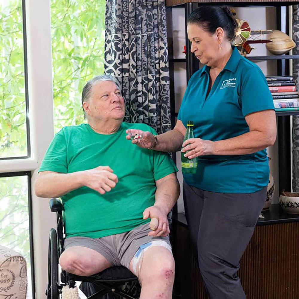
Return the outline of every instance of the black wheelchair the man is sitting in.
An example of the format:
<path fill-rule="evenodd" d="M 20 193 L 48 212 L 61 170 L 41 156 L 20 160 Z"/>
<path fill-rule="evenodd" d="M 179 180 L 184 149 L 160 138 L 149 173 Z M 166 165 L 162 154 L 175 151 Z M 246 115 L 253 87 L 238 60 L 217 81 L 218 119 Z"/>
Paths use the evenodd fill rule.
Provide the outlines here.
<path fill-rule="evenodd" d="M 60 199 L 50 199 L 51 212 L 57 213 L 57 231 L 51 228 L 49 233 L 48 250 L 48 285 L 45 291 L 47 299 L 59 299 L 62 287 L 74 288 L 76 281 L 92 283 L 97 286 L 97 292 L 87 299 L 125 298 L 138 299 L 140 286 L 138 278 L 129 269 L 123 266 L 112 266 L 91 276 L 77 276 L 62 269 L 59 282 L 59 257 L 64 251 L 64 225 L 62 220 L 63 204 Z M 123 290 L 123 285 L 130 283 L 133 287 Z"/>

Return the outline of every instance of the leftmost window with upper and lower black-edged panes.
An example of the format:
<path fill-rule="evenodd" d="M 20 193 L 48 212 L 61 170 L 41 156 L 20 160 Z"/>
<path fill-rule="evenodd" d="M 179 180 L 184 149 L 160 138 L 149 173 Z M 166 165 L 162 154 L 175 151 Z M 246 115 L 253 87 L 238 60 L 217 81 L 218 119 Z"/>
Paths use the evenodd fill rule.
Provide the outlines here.
<path fill-rule="evenodd" d="M 24 4 L 0 3 L 0 160 L 7 164 L 30 157 Z M 30 178 L 30 171 L 0 173 L 0 244 L 25 258 L 27 298 L 34 298 Z"/>

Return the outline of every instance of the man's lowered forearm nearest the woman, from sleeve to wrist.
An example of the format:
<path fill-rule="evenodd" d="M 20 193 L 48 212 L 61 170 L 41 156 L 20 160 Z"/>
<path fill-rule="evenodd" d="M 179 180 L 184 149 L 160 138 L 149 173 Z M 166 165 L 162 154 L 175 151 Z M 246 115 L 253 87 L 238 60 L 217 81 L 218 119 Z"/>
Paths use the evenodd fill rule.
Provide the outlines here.
<path fill-rule="evenodd" d="M 180 185 L 175 173 L 157 184 L 154 206 L 159 207 L 167 215 L 180 195 Z"/>

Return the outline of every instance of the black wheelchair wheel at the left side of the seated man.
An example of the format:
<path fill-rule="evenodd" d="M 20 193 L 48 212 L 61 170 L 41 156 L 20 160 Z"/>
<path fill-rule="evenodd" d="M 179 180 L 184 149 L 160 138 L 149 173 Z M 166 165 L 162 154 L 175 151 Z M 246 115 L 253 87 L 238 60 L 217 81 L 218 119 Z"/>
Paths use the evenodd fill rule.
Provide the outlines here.
<path fill-rule="evenodd" d="M 58 250 L 57 250 L 57 233 L 51 228 L 49 234 L 48 250 L 48 286 L 46 289 L 47 299 L 58 299 Z"/>

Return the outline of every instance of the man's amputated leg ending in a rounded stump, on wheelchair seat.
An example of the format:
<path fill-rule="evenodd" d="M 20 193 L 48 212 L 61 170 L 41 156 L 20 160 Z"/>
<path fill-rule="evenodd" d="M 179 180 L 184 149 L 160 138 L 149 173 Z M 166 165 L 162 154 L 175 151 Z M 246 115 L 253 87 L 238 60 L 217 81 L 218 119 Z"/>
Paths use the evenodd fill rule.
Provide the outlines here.
<path fill-rule="evenodd" d="M 65 271 L 79 276 L 93 275 L 111 267 L 102 254 L 83 246 L 69 247 L 63 251 L 59 263 Z"/>

